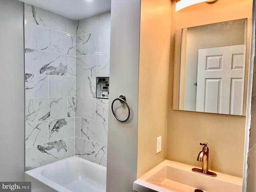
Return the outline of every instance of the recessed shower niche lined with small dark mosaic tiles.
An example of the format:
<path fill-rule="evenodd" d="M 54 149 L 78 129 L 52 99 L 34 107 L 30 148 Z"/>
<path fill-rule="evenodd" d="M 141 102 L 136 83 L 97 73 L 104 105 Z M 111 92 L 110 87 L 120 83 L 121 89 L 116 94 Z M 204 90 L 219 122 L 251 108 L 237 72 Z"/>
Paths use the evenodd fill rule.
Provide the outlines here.
<path fill-rule="evenodd" d="M 109 77 L 97 77 L 96 98 L 108 99 Z"/>

